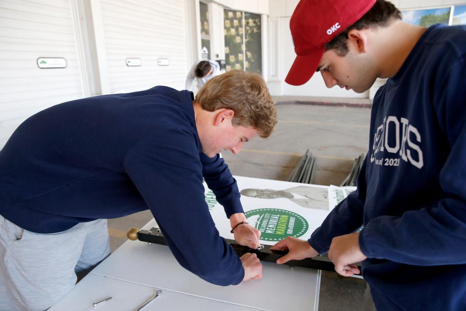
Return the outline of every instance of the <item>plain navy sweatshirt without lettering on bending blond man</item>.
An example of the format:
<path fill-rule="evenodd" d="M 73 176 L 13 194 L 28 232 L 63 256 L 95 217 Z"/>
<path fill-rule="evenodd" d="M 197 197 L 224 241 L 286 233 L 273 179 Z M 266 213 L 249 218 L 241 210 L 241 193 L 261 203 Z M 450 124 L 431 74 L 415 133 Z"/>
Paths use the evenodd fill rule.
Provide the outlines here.
<path fill-rule="evenodd" d="M 37 233 L 150 208 L 180 264 L 238 284 L 241 260 L 221 238 L 202 178 L 225 207 L 240 194 L 218 155 L 202 153 L 189 91 L 156 86 L 55 105 L 24 121 L 0 152 L 0 214 Z"/>

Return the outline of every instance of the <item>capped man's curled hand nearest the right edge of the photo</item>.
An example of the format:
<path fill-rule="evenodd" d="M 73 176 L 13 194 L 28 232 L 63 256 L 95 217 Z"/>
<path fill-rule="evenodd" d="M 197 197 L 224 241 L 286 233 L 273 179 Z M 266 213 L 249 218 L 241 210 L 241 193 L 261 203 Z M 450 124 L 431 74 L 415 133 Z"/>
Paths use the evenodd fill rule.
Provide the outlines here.
<path fill-rule="evenodd" d="M 342 276 L 360 273 L 355 263 L 367 257 L 359 247 L 359 232 L 333 238 L 329 258 L 335 265 L 335 271 Z"/>

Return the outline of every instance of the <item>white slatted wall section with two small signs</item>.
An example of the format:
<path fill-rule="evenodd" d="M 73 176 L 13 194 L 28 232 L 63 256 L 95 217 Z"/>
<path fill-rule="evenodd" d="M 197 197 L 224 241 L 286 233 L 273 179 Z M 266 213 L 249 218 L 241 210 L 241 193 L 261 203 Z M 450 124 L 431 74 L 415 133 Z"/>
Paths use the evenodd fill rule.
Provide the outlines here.
<path fill-rule="evenodd" d="M 157 85 L 183 89 L 186 39 L 182 0 L 101 0 L 110 93 Z M 128 67 L 127 58 L 142 66 Z M 159 66 L 157 60 L 169 60 Z"/>

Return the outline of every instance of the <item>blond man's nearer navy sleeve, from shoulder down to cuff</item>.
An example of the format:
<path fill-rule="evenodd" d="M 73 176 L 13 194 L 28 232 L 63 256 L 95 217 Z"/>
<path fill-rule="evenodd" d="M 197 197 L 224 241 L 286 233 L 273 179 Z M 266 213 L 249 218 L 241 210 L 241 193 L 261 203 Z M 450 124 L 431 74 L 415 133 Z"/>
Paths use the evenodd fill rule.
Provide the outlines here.
<path fill-rule="evenodd" d="M 205 203 L 199 151 L 189 129 L 143 138 L 126 155 L 124 167 L 185 269 L 216 285 L 243 280 L 241 260 L 219 236 Z"/>

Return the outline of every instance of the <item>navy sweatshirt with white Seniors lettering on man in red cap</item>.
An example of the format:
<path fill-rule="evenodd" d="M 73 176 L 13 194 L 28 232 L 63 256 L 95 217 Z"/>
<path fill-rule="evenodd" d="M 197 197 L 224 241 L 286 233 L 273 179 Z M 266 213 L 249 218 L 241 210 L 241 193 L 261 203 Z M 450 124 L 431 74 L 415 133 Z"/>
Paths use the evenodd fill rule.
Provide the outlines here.
<path fill-rule="evenodd" d="M 466 27 L 434 25 L 377 92 L 357 190 L 309 243 L 364 225 L 377 310 L 466 310 Z"/>

